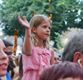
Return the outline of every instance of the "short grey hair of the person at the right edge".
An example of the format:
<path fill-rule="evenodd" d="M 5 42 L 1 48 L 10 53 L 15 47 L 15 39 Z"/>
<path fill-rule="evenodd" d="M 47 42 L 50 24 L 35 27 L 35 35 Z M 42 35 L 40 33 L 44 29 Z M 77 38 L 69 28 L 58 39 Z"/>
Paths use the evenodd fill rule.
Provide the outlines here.
<path fill-rule="evenodd" d="M 69 41 L 62 55 L 63 61 L 73 61 L 75 52 L 83 53 L 83 32 L 78 32 Z"/>

